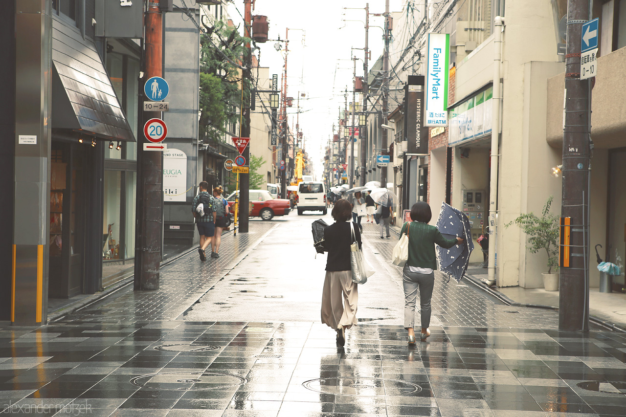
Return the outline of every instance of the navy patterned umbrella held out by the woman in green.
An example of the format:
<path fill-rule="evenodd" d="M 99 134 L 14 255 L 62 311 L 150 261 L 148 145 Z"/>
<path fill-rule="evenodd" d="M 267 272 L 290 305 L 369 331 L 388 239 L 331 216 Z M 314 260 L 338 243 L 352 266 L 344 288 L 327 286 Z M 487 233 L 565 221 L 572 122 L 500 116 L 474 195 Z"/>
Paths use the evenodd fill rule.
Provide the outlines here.
<path fill-rule="evenodd" d="M 461 210 L 442 202 L 437 229 L 446 239 L 456 239 L 456 237 L 465 239 L 463 244 L 454 245 L 450 249 L 437 246 L 441 272 L 459 282 L 468 269 L 469 254 L 474 250 L 474 242 L 469 232 L 469 219 Z"/>

